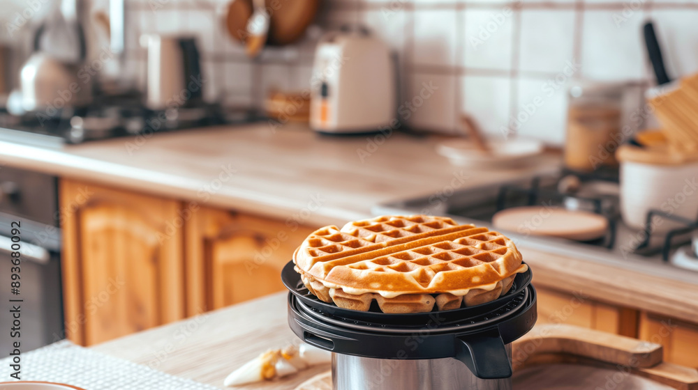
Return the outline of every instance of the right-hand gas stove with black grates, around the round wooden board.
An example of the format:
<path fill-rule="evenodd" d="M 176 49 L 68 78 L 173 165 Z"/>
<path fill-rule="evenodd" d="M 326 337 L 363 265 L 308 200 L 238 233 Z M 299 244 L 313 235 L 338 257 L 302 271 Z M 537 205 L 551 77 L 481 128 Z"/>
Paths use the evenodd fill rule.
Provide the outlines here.
<path fill-rule="evenodd" d="M 613 175 L 585 176 L 564 169 L 542 175 L 532 173 L 511 182 L 454 191 L 449 196 L 430 194 L 384 203 L 373 208 L 373 213 L 443 215 L 462 224 L 495 228 L 492 217 L 496 212 L 527 205 L 593 212 L 607 219 L 608 228 L 603 237 L 590 241 L 499 229 L 521 248 L 642 269 L 698 284 L 697 274 L 683 271 L 698 272 L 698 256 L 694 250 L 698 250 L 698 239 L 691 247 L 692 235 L 698 231 L 698 221 L 679 221 L 660 210 L 653 210 L 653 216 L 671 219 L 680 226 L 663 233 L 652 233 L 649 228 L 646 231 L 630 228 L 621 218 L 618 178 Z"/>

